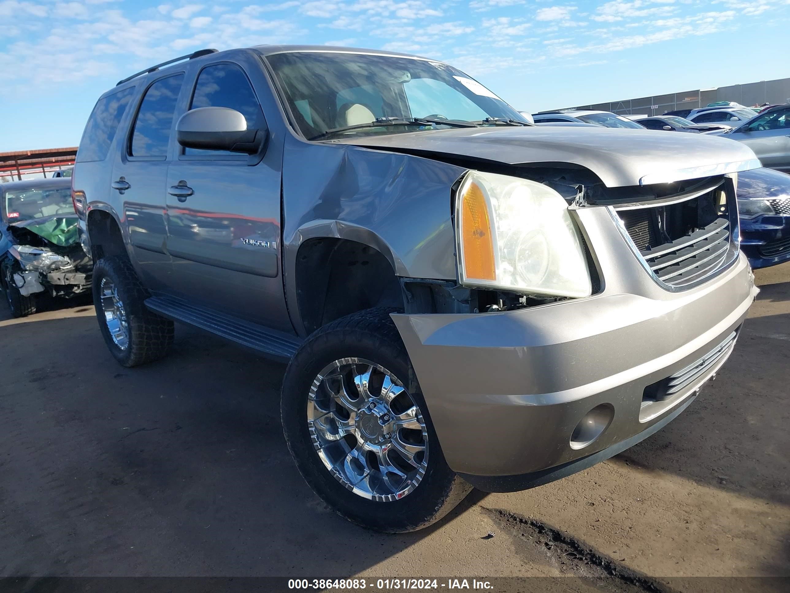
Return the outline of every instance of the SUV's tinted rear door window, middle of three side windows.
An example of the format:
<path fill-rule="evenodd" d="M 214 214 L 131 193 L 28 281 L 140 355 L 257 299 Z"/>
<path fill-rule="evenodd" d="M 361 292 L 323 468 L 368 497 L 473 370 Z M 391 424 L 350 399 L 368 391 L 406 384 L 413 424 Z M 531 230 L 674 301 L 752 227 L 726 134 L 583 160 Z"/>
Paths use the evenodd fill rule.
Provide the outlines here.
<path fill-rule="evenodd" d="M 154 82 L 145 93 L 130 145 L 131 157 L 167 157 L 175 101 L 179 98 L 183 74 Z"/>

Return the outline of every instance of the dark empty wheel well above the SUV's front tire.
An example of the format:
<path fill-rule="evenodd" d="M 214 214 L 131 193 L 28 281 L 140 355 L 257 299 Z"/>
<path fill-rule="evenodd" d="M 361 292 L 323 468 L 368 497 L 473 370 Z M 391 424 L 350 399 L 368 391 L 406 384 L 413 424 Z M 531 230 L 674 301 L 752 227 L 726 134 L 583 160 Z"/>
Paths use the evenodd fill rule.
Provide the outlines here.
<path fill-rule="evenodd" d="M 347 239 L 310 239 L 299 247 L 296 295 L 308 334 L 364 309 L 403 308 L 401 282 L 389 260 L 374 247 Z"/>

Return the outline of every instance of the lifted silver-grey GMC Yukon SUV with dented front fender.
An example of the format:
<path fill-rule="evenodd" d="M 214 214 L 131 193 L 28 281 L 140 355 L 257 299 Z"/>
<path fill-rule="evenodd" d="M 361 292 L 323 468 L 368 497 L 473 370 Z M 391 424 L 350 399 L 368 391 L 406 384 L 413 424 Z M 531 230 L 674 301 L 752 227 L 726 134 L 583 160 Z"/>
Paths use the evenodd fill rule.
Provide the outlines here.
<path fill-rule="evenodd" d="M 380 531 L 545 484 L 683 412 L 757 289 L 739 142 L 535 127 L 442 62 L 261 46 L 100 97 L 73 173 L 120 364 L 173 321 L 288 361 L 310 486 Z"/>

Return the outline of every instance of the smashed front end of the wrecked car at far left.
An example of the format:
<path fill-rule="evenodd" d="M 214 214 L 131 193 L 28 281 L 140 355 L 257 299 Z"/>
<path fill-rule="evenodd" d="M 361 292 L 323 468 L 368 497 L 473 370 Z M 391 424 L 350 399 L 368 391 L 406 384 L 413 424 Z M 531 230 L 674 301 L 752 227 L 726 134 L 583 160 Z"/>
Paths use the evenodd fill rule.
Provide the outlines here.
<path fill-rule="evenodd" d="M 9 225 L 13 244 L 6 281 L 22 296 L 70 297 L 91 288 L 91 259 L 82 250 L 75 217 L 52 217 Z"/>

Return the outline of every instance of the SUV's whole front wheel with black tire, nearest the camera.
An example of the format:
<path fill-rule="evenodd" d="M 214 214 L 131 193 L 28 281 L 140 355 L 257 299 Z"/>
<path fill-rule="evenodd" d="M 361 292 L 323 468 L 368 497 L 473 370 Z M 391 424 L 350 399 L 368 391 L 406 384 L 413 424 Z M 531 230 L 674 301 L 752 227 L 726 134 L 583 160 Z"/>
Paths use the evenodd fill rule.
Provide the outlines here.
<path fill-rule="evenodd" d="M 450 470 L 392 309 L 337 319 L 288 364 L 280 403 L 303 478 L 341 516 L 404 533 L 442 519 L 472 489 Z"/>

